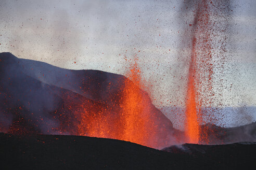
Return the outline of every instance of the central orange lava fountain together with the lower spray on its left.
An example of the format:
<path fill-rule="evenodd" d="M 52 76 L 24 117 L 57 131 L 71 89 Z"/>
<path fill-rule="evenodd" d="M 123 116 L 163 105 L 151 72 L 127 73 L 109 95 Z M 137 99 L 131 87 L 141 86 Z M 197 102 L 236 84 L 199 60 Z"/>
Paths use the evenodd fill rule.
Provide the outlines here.
<path fill-rule="evenodd" d="M 154 143 L 155 125 L 147 108 L 150 101 L 144 98 L 142 77 L 135 56 L 129 73 L 123 82 L 120 99 L 116 106 L 104 104 L 81 105 L 82 111 L 76 111 L 78 133 L 83 136 L 113 138 L 131 141 L 136 144 L 156 147 Z M 119 116 L 114 116 L 119 112 Z M 121 114 L 120 114 L 121 113 Z"/>

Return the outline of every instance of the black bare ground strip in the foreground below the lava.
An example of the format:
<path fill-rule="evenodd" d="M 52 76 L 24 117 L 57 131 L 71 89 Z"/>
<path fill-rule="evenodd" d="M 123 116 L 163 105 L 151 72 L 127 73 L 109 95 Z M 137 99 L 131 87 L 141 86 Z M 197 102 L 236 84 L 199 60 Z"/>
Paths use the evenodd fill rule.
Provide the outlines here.
<path fill-rule="evenodd" d="M 185 144 L 164 150 L 113 139 L 0 133 L 1 169 L 253 169 L 256 165 L 255 143 Z"/>

